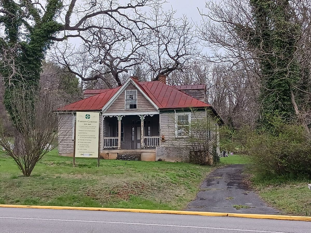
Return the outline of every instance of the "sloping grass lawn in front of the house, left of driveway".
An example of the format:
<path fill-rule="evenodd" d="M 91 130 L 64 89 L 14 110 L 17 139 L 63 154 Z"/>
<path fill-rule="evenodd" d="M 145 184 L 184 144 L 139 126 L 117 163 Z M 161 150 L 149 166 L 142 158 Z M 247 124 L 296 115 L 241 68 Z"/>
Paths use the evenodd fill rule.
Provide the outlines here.
<path fill-rule="evenodd" d="M 0 152 L 1 153 L 1 152 Z M 58 156 L 54 149 L 30 177 L 0 154 L 0 204 L 183 209 L 211 167 Z"/>

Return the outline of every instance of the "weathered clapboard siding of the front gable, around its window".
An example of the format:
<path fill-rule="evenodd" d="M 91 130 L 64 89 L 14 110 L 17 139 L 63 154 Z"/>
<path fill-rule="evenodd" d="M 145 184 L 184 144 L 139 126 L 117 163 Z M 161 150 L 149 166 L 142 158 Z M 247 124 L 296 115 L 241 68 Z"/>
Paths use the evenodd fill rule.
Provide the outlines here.
<path fill-rule="evenodd" d="M 125 90 L 137 90 L 136 87 L 130 83 Z M 125 96 L 124 91 L 114 101 L 113 104 L 107 109 L 106 112 L 148 112 L 156 111 L 152 104 L 137 90 L 137 109 L 126 109 L 125 110 Z"/>

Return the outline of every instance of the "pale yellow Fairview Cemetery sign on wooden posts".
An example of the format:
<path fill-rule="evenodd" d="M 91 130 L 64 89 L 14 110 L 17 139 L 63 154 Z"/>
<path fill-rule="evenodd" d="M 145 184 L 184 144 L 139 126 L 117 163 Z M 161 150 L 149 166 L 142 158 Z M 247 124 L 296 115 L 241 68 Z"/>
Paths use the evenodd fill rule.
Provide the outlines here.
<path fill-rule="evenodd" d="M 74 157 L 98 158 L 99 112 L 77 112 Z"/>

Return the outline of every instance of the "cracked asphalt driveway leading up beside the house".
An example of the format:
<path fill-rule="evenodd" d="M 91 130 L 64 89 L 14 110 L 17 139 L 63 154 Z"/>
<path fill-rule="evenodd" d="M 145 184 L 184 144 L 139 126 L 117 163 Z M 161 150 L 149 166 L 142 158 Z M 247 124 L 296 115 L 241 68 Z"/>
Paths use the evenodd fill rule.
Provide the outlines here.
<path fill-rule="evenodd" d="M 203 181 L 197 198 L 186 210 L 229 213 L 277 214 L 245 184 L 244 165 L 234 164 L 212 171 Z M 240 205 L 247 208 L 234 208 Z M 310 230 L 311 232 L 311 230 Z"/>

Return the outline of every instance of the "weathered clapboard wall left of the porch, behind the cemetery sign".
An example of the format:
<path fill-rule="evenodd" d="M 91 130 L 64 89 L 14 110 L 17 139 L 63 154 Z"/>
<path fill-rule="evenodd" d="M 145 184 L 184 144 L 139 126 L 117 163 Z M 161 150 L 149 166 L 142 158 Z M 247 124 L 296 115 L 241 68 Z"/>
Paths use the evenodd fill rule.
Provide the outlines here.
<path fill-rule="evenodd" d="M 102 144 L 100 116 L 100 148 Z M 73 116 L 72 114 L 60 114 L 58 125 L 58 153 L 73 153 L 74 140 L 72 139 Z"/>

